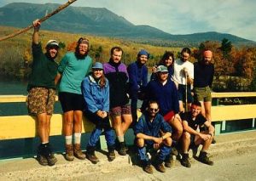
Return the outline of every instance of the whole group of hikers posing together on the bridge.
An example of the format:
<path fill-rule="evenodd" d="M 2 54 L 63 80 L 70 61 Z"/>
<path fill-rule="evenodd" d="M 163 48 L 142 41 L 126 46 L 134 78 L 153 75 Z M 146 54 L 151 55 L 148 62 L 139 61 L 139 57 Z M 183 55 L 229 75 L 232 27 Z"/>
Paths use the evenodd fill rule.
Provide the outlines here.
<path fill-rule="evenodd" d="M 58 65 L 55 58 L 59 43 L 49 40 L 44 54 L 38 33 L 41 23 L 34 20 L 32 25 L 33 61 L 27 86 L 27 108 L 38 122 L 41 144 L 37 160 L 41 165 L 53 166 L 57 161 L 49 145 L 56 85 L 59 85 L 63 110 L 67 161 L 77 157 L 97 163 L 96 144 L 102 133 L 108 145 L 108 161 L 115 159 L 114 150 L 125 156 L 128 151 L 125 133 L 131 127 L 137 156 L 147 173 L 153 173 L 152 165 L 161 173 L 166 172 L 165 167 L 173 166 L 174 156 L 184 167 L 191 167 L 189 149 L 194 150 L 196 156 L 200 144 L 198 160 L 213 164 L 207 156 L 214 140 L 211 124 L 214 67 L 210 50 L 205 50 L 201 61 L 195 64 L 189 62 L 189 48 L 182 49 L 180 59 L 174 59 L 174 54 L 167 51 L 152 68 L 148 82 L 149 54 L 144 49 L 127 67 L 121 62 L 123 50 L 120 47 L 111 48 L 108 62 L 93 64 L 88 55 L 89 40 L 80 37 L 75 51 L 65 54 Z M 140 109 L 138 99 L 143 100 Z M 137 110 L 142 116 L 137 116 Z M 96 126 L 90 133 L 85 154 L 81 150 L 83 116 Z M 148 152 L 152 154 L 151 159 Z"/>

